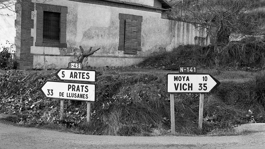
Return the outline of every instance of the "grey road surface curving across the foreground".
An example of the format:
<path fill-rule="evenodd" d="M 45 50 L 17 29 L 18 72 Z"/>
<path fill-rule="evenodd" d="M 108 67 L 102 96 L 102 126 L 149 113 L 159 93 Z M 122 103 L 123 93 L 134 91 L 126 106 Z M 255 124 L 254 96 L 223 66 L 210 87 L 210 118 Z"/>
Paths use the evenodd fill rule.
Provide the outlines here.
<path fill-rule="evenodd" d="M 265 148 L 265 132 L 222 137 L 122 137 L 79 135 L 0 123 L 0 149 L 14 148 Z"/>

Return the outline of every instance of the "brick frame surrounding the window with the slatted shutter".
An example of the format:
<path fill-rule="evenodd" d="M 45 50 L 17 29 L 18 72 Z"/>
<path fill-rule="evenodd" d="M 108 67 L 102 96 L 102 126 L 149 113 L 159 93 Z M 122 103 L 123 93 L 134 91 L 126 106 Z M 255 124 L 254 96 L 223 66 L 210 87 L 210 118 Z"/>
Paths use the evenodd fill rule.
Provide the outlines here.
<path fill-rule="evenodd" d="M 137 54 L 137 51 L 142 51 L 141 48 L 141 32 L 142 32 L 142 16 L 136 16 L 132 14 L 119 14 L 120 19 L 120 39 L 119 39 L 119 47 L 118 50 L 123 50 L 124 54 Z M 125 46 L 125 32 L 126 32 L 126 19 L 137 21 L 137 51 L 134 50 L 126 50 Z"/>

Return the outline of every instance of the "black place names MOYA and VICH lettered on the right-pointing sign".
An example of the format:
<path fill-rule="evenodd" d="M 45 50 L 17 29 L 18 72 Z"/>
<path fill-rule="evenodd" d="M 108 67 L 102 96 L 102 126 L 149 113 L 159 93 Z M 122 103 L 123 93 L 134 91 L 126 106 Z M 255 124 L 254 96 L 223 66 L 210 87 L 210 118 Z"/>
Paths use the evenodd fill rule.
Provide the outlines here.
<path fill-rule="evenodd" d="M 174 81 L 189 81 L 189 76 L 174 76 Z M 176 91 L 192 91 L 192 83 L 174 83 Z"/>

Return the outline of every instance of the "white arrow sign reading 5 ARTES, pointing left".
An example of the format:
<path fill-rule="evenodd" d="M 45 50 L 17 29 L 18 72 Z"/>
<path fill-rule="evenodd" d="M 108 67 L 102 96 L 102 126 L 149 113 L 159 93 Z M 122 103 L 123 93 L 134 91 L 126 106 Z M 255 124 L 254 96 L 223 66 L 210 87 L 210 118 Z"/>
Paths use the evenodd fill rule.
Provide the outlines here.
<path fill-rule="evenodd" d="M 95 82 L 95 70 L 59 69 L 56 77 L 60 80 Z"/>

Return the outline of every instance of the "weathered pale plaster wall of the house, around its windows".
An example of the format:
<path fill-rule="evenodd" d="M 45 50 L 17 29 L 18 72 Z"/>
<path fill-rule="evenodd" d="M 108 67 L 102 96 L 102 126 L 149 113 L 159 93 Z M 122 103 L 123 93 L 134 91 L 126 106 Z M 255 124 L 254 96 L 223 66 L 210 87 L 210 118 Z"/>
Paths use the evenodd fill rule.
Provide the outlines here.
<path fill-rule="evenodd" d="M 32 0 L 32 2 L 36 1 Z M 31 33 L 27 36 L 33 41 L 29 41 L 32 43 L 27 43 L 27 46 L 30 46 L 29 55 L 33 56 L 33 68 L 37 69 L 67 67 L 68 62 L 75 60 L 74 55 L 80 53 L 80 45 L 85 51 L 90 46 L 101 48 L 95 54 L 89 56 L 88 65 L 104 67 L 137 64 L 149 55 L 166 50 L 170 51 L 180 44 L 208 45 L 210 43 L 208 40 L 210 37 L 199 33 L 192 24 L 162 19 L 161 13 L 157 12 L 69 0 L 56 0 L 46 2 L 46 4 L 61 5 L 68 8 L 67 48 L 35 46 L 37 12 L 36 9 L 33 9 L 31 18 L 27 18 L 28 21 L 32 19 L 34 22 L 34 25 L 30 26 Z M 138 51 L 137 54 L 124 54 L 124 51 L 118 50 L 120 13 L 143 17 L 142 51 Z"/>

